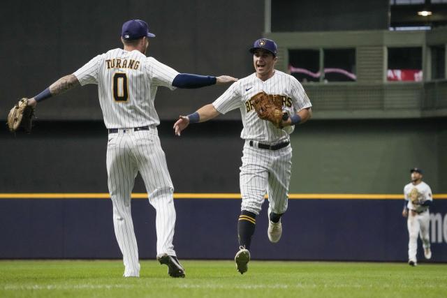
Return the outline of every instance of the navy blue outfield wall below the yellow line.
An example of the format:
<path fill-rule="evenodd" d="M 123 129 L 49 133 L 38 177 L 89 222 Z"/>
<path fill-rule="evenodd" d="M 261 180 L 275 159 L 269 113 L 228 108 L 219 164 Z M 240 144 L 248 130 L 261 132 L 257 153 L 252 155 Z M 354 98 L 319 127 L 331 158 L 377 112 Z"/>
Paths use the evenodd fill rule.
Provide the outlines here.
<path fill-rule="evenodd" d="M 240 199 L 182 198 L 175 206 L 179 258 L 234 257 Z M 108 199 L 2 199 L 0 209 L 0 258 L 120 258 Z M 401 210 L 402 201 L 393 199 L 292 199 L 278 244 L 268 241 L 265 212 L 258 216 L 251 254 L 260 260 L 403 262 L 408 232 Z M 154 209 L 133 199 L 132 212 L 140 258 L 155 258 Z M 430 228 L 431 262 L 447 262 L 447 200 L 435 199 Z"/>

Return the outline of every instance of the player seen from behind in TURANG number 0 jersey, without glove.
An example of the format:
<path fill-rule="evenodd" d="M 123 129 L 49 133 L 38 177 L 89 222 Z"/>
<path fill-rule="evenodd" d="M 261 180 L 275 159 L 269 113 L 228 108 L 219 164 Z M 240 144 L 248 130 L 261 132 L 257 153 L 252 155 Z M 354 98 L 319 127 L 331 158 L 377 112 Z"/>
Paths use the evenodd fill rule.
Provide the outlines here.
<path fill-rule="evenodd" d="M 113 223 L 123 254 L 124 276 L 138 277 L 138 247 L 131 217 L 131 191 L 140 172 L 149 203 L 156 209 L 157 259 L 168 265 L 168 274 L 184 277 L 174 246 L 175 208 L 173 183 L 161 149 L 156 126 L 160 124 L 154 108 L 158 87 L 198 88 L 234 82 L 228 76 L 210 77 L 177 73 L 152 57 L 147 23 L 130 20 L 122 26 L 124 49 L 100 54 L 73 75 L 61 77 L 41 94 L 29 99 L 31 105 L 61 94 L 77 85 L 97 84 L 105 126 L 108 128 L 108 188 L 113 204 Z"/>

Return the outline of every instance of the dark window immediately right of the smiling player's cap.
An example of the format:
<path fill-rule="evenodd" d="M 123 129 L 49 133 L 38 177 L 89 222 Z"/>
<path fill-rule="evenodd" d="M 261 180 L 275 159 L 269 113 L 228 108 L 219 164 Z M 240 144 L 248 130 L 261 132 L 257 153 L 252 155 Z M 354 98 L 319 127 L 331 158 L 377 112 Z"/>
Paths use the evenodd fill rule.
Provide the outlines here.
<path fill-rule="evenodd" d="M 320 81 L 319 50 L 289 50 L 288 68 L 300 82 Z"/>

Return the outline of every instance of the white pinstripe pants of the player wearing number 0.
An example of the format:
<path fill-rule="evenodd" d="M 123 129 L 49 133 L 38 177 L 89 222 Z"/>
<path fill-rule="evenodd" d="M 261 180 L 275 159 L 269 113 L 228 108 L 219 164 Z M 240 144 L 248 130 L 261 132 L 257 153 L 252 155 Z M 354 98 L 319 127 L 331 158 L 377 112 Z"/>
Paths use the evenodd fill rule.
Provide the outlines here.
<path fill-rule="evenodd" d="M 131 216 L 135 177 L 140 172 L 149 203 L 156 209 L 157 256 L 175 255 L 173 182 L 156 128 L 149 131 L 119 129 L 108 138 L 106 163 L 115 236 L 123 254 L 124 276 L 139 276 L 138 247 Z"/>

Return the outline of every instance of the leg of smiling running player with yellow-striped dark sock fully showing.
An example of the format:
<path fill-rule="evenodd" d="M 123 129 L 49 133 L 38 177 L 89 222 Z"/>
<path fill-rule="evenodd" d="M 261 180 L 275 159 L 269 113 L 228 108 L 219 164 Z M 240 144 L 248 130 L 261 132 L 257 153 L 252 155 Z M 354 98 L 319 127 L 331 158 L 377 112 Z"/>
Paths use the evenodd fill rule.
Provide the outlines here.
<path fill-rule="evenodd" d="M 263 149 L 244 147 L 242 166 L 240 167 L 240 192 L 242 196 L 241 213 L 237 221 L 237 238 L 239 251 L 235 255 L 237 270 L 243 274 L 247 271 L 250 260 L 251 237 L 256 228 L 256 216 L 261 211 L 267 186 L 268 172 L 265 165 L 268 158 Z"/>

